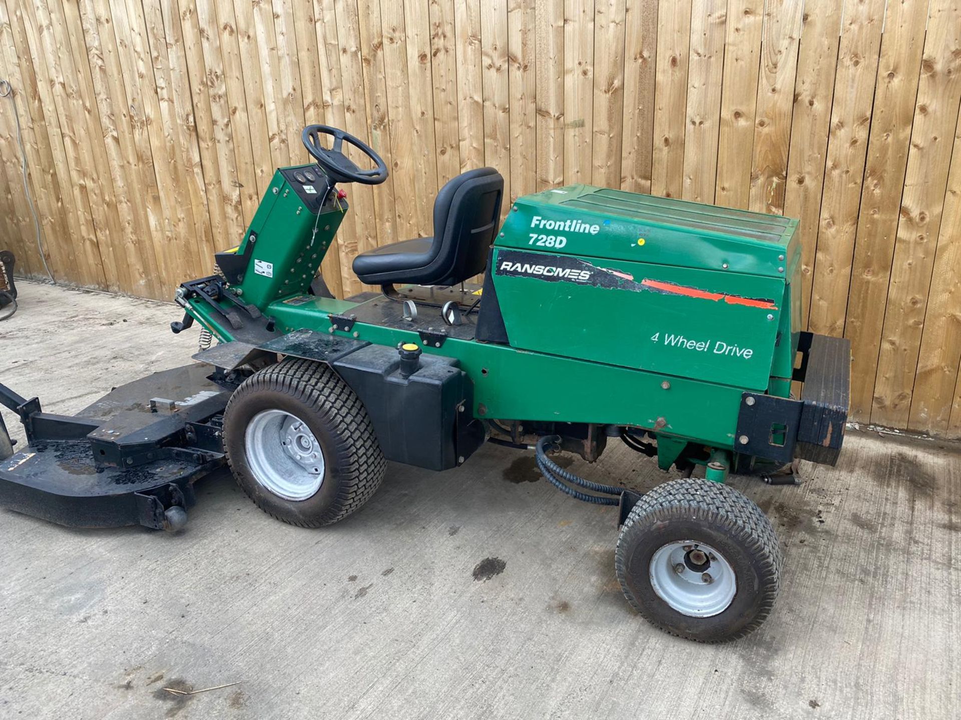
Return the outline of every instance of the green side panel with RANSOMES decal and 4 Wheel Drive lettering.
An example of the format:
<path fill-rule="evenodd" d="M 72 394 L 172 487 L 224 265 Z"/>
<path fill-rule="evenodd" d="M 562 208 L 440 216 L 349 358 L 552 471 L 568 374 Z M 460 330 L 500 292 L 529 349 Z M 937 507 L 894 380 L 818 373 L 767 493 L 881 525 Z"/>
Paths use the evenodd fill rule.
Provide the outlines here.
<path fill-rule="evenodd" d="M 550 252 L 494 253 L 517 348 L 752 390 L 768 387 L 784 280 Z M 569 270 L 563 276 L 553 269 Z M 590 274 L 590 275 L 585 275 Z"/>

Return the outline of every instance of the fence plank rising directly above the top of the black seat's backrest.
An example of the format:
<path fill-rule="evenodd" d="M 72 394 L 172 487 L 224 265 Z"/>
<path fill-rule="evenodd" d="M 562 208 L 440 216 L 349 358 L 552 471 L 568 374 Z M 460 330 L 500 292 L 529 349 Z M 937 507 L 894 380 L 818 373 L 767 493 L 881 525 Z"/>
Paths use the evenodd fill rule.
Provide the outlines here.
<path fill-rule="evenodd" d="M 563 0 L 560 0 L 561 2 Z M 457 133 L 460 171 L 483 167 L 483 54 L 480 0 L 455 0 Z"/>

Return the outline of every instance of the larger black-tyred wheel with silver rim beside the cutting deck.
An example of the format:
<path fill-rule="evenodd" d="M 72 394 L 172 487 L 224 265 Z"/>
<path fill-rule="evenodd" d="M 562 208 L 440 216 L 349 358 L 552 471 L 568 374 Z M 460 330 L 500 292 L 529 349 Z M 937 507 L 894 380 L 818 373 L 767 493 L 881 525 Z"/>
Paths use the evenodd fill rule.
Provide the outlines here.
<path fill-rule="evenodd" d="M 251 375 L 224 412 L 237 484 L 264 512 L 330 525 L 381 485 L 386 461 L 367 411 L 331 368 L 287 359 Z"/>

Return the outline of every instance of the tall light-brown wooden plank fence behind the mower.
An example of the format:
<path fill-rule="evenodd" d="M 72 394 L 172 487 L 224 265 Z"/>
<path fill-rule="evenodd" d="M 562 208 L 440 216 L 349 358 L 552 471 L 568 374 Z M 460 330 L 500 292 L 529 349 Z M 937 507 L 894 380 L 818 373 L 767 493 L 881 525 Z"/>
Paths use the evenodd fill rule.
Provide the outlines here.
<path fill-rule="evenodd" d="M 326 122 L 388 160 L 324 264 L 431 233 L 439 185 L 590 182 L 801 219 L 804 319 L 857 420 L 961 435 L 957 0 L 0 0 L 53 274 L 169 298 Z M 43 274 L 0 98 L 0 232 Z"/>

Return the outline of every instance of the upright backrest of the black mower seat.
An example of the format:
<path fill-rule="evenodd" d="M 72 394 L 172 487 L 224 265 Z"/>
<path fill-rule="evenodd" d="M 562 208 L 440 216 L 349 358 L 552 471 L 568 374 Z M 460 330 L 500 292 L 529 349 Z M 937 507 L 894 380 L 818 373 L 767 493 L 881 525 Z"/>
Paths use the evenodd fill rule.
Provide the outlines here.
<path fill-rule="evenodd" d="M 434 285 L 456 285 L 483 272 L 501 220 L 504 178 L 494 168 L 468 170 L 450 180 L 433 203 L 431 262 L 444 276 Z"/>

